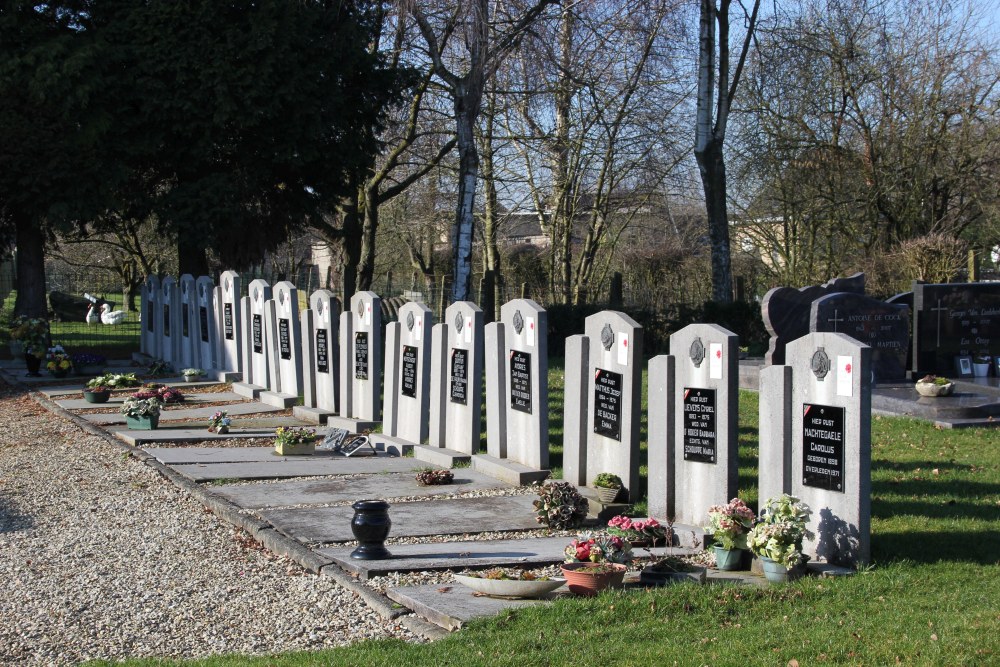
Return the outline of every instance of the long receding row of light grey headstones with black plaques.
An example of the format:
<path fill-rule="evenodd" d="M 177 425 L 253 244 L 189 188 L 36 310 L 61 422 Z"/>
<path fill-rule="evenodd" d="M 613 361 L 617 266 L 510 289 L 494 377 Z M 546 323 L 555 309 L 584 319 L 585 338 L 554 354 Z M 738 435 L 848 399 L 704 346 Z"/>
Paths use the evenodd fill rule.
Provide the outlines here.
<path fill-rule="evenodd" d="M 170 319 L 164 284 L 170 279 L 160 286 L 164 314 L 144 304 L 153 332 Z M 199 317 L 222 332 L 214 358 L 239 360 L 230 370 L 242 372 L 243 387 L 263 400 L 294 402 L 302 394 L 303 410 L 355 430 L 384 412 L 385 437 L 474 455 L 474 465 L 485 403 L 485 456 L 548 467 L 548 325 L 535 302 L 504 304 L 499 321 L 485 326 L 469 302 L 452 304 L 436 325 L 426 306 L 407 303 L 385 327 L 383 356 L 381 303 L 372 292 L 355 294 L 341 313 L 339 301 L 319 290 L 301 314 L 290 283 L 272 289 L 255 280 L 239 295 L 239 277 L 224 273 L 215 309 L 206 305 Z M 169 338 L 148 347 L 164 350 Z M 229 344 L 242 354 L 228 356 Z M 737 493 L 738 338 L 695 324 L 672 335 L 670 349 L 649 362 L 649 512 L 702 525 L 711 505 Z M 871 395 L 861 378 L 871 350 L 845 335 L 815 333 L 789 344 L 787 357 L 787 365 L 761 374 L 760 496 L 792 493 L 816 510 L 806 545 L 812 557 L 865 562 Z M 614 311 L 588 317 L 584 333 L 566 344 L 564 479 L 589 486 L 611 472 L 630 501 L 639 499 L 641 391 L 642 327 Z"/>

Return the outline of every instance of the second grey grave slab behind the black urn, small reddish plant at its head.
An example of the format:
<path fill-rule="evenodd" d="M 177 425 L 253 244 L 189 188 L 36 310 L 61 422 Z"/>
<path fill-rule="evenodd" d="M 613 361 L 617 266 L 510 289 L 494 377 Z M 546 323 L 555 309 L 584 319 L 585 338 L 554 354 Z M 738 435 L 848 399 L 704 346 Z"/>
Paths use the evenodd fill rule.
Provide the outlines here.
<path fill-rule="evenodd" d="M 224 449 L 224 448 L 222 448 Z M 169 450 L 168 450 L 169 451 Z M 225 454 L 220 456 L 225 457 Z M 474 470 L 458 470 L 451 484 L 442 486 L 421 486 L 417 484 L 413 472 L 385 474 L 386 461 L 399 461 L 396 457 L 369 457 L 363 460 L 344 457 L 344 462 L 357 461 L 362 472 L 373 473 L 370 477 L 350 479 L 322 479 L 281 482 L 279 484 L 246 484 L 223 486 L 216 493 L 232 500 L 240 507 L 262 509 L 282 505 L 320 505 L 325 503 L 354 502 L 359 498 L 403 498 L 412 496 L 434 496 L 482 489 L 497 489 L 507 485 L 495 479 L 480 475 Z M 413 459 L 402 459 L 412 463 Z M 352 465 L 353 467 L 353 465 Z M 381 474 L 378 474 L 381 473 Z"/>

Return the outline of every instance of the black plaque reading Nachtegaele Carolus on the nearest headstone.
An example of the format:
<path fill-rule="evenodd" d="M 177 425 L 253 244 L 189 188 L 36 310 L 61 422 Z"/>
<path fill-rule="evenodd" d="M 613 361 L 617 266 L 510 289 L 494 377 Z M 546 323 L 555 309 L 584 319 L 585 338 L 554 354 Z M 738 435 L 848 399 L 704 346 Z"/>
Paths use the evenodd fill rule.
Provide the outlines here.
<path fill-rule="evenodd" d="M 802 406 L 802 484 L 844 492 L 844 408 Z"/>

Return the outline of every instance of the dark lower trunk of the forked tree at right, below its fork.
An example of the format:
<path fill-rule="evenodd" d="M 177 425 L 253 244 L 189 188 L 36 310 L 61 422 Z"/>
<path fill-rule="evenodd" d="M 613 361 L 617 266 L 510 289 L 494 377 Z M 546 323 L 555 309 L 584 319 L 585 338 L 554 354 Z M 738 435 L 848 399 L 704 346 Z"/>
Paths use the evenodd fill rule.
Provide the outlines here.
<path fill-rule="evenodd" d="M 722 143 L 712 140 L 705 151 L 696 151 L 698 171 L 705 192 L 708 238 L 712 246 L 712 300 L 733 300 L 733 274 L 729 252 L 729 216 L 726 211 L 726 163 Z"/>

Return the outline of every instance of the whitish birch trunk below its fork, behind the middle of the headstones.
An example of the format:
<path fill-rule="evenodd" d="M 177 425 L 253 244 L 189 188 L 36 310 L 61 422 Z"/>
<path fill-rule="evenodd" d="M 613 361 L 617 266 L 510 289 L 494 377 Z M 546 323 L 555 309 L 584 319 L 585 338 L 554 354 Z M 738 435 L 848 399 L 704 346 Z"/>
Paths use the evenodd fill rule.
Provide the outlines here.
<path fill-rule="evenodd" d="M 452 258 L 452 301 L 468 301 L 472 293 L 472 233 L 476 179 L 479 177 L 479 152 L 476 150 L 473 127 L 479 111 L 479 100 L 470 100 L 469 97 L 471 95 L 456 95 L 455 104 L 458 130 L 458 205 L 455 211 L 455 254 Z"/>

